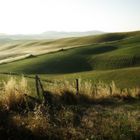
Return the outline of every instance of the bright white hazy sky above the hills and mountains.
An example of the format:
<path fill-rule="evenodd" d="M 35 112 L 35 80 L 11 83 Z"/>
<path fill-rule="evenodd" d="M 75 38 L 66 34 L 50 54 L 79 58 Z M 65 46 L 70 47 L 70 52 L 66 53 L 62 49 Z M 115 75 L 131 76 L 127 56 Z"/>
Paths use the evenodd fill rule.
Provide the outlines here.
<path fill-rule="evenodd" d="M 140 30 L 140 0 L 0 0 L 0 33 Z"/>

